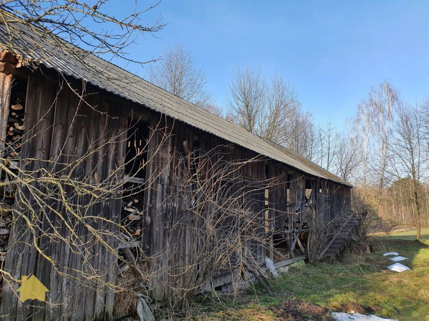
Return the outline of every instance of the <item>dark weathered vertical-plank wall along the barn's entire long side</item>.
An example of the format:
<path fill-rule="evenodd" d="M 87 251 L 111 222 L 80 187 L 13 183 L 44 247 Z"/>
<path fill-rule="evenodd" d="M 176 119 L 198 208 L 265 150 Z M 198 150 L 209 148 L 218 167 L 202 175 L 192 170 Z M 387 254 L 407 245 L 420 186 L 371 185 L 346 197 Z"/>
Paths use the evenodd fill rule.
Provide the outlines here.
<path fill-rule="evenodd" d="M 104 147 L 91 159 L 79 165 L 75 171 L 76 175 L 87 176 L 88 179 L 94 181 L 101 181 L 108 177 L 112 169 L 120 166 L 124 159 L 128 109 L 120 102 L 118 103 L 119 99 L 112 100 L 106 97 L 90 95 L 86 98 L 92 106 L 97 106 L 98 111 L 96 111 L 82 104 L 67 86 L 60 86 L 58 82 L 53 82 L 45 77 L 29 76 L 25 121 L 26 131 L 31 139 L 22 146 L 21 150 L 23 157 L 34 156 L 40 161 L 23 163 L 20 166 L 26 170 L 37 170 L 46 166 L 54 166 L 52 163 L 48 164 L 42 160 L 67 162 L 84 153 L 99 137 L 110 137 L 123 132 L 123 136 L 118 137 L 116 144 Z M 75 116 L 77 108 L 79 112 Z M 154 116 L 147 109 L 143 112 L 150 117 L 153 131 L 159 124 L 165 126 L 167 131 L 171 130 L 171 135 L 165 141 L 160 133 L 155 133 L 151 140 L 152 148 L 148 155 L 151 161 L 148 163 L 146 172 L 146 184 L 150 188 L 145 192 L 145 212 L 142 220 L 142 248 L 148 256 L 155 257 L 152 268 L 155 267 L 157 278 L 154 279 L 151 286 L 157 289 L 154 293 L 155 298 L 162 300 L 171 293 L 171 289 L 164 288 L 165 284 L 180 287 L 180 273 L 177 271 L 188 265 L 189 255 L 196 250 L 190 243 L 192 230 L 179 230 L 173 226 L 182 219 L 191 218 L 183 213 L 183 208 L 178 200 L 165 202 L 166 197 L 175 188 L 172 171 L 177 169 L 176 156 L 183 152 L 184 141 L 187 141 L 192 149 L 197 136 L 199 147 L 203 151 L 224 145 L 225 153 L 221 157 L 229 160 L 245 160 L 257 155 L 239 146 L 229 146 L 230 143 L 180 121 L 171 119 L 160 121 L 159 116 Z M 163 143 L 161 143 L 162 141 Z M 316 212 L 320 210 L 318 214 L 327 215 L 328 219 L 341 211 L 350 211 L 350 188 L 307 177 L 303 173 L 268 159 L 251 162 L 241 168 L 237 174 L 246 177 L 249 182 L 278 178 L 275 186 L 269 189 L 267 200 L 261 191 L 257 191 L 251 196 L 252 209 L 255 213 L 263 213 L 267 207 L 267 223 L 270 231 L 284 230 L 286 224 L 289 224 L 290 230 L 298 226 L 299 222 L 302 225 L 302 213 L 308 206 L 305 202 L 306 180 L 312 180 L 312 199 L 316 203 L 314 207 L 318 209 Z M 289 200 L 287 196 L 289 196 Z M 25 197 L 30 203 L 34 202 L 30 195 Z M 332 210 L 323 212 L 319 207 L 321 200 L 328 202 Z M 265 205 L 265 201 L 268 201 L 267 205 Z M 87 204 L 89 197 L 83 196 L 76 199 L 75 202 Z M 57 205 L 53 204 L 53 206 Z M 112 199 L 94 206 L 91 214 L 118 221 L 121 206 L 120 200 Z M 60 223 L 58 218 L 49 211 L 39 213 L 39 215 L 42 229 L 48 228 L 48 220 L 54 221 L 58 225 Z M 260 226 L 258 228 L 260 233 L 264 233 L 266 219 L 263 215 L 259 218 Z M 102 226 L 95 227 L 101 228 Z M 116 227 L 110 224 L 103 228 L 114 231 Z M 64 227 L 62 230 L 64 236 L 69 237 L 68 231 Z M 78 233 L 81 233 L 80 237 L 88 242 L 93 241 L 81 230 Z M 12 284 L 12 286 L 3 288 L 1 315 L 8 314 L 9 320 L 23 320 L 29 315 L 35 315 L 36 320 L 54 320 L 58 316 L 65 316 L 64 320 L 67 318 L 74 320 L 110 318 L 114 304 L 114 295 L 111 291 L 108 289 L 95 291 L 83 287 L 80 284 L 79 274 L 74 275 L 77 279 L 74 281 L 61 277 L 52 268 L 50 262 L 41 257 L 34 247 L 28 246 L 32 242 L 31 237 L 25 222 L 18 219 L 11 231 L 5 268 L 16 279 L 20 279 L 22 275 L 34 274 L 49 289 L 46 298 L 50 304 L 33 302 L 34 308 L 30 308 L 27 303 L 22 304 L 14 293 L 19 284 Z M 296 237 L 297 234 L 288 240 L 291 246 L 295 246 Z M 109 239 L 108 242 L 112 247 L 117 245 L 115 240 Z M 178 244 L 179 249 L 176 246 Z M 73 275 L 72 269 L 79 269 L 81 266 L 81 258 L 71 253 L 67 247 L 53 246 L 46 237 L 40 237 L 38 245 L 41 249 L 46 250 L 48 256 L 58 260 L 61 266 L 69 267 L 67 270 L 60 268 L 60 272 L 69 272 Z M 252 248 L 259 264 L 263 264 L 267 255 L 266 246 L 267 244 L 254 244 Z M 105 272 L 106 282 L 113 280 L 116 275 L 116 260 L 113 255 L 106 252 L 97 242 L 94 242 L 94 251 L 98 255 L 91 264 L 101 273 Z M 174 267 L 176 272 L 170 273 L 168 268 L 156 269 L 157 267 Z"/>

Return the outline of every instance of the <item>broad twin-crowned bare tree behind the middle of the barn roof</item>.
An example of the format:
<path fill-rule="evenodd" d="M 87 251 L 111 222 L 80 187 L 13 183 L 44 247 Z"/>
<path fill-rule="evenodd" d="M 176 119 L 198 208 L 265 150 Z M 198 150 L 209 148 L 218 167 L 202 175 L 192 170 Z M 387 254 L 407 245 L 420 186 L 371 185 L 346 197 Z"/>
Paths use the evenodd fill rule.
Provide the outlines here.
<path fill-rule="evenodd" d="M 305 155 L 312 154 L 312 119 L 293 85 L 281 75 L 238 68 L 229 84 L 228 119 L 254 134 Z"/>

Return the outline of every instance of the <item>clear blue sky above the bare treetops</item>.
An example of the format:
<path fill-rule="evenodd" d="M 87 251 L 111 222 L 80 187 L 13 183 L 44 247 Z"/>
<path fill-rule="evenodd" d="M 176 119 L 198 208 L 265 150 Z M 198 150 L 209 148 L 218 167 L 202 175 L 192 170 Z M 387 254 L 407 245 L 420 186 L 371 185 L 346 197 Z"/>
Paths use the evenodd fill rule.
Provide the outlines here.
<path fill-rule="evenodd" d="M 133 4 L 111 5 L 119 13 L 130 9 L 125 3 Z M 163 0 L 146 17 L 158 15 L 167 26 L 130 54 L 151 59 L 185 44 L 219 106 L 239 65 L 282 73 L 316 121 L 331 116 L 339 125 L 384 79 L 411 103 L 429 95 L 429 0 Z M 137 66 L 127 69 L 145 75 Z"/>

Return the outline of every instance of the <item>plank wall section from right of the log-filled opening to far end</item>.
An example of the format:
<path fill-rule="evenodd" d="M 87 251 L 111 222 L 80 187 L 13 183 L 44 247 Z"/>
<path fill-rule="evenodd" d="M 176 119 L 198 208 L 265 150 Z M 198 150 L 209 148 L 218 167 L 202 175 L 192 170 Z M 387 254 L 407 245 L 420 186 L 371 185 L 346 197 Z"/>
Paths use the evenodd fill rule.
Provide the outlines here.
<path fill-rule="evenodd" d="M 225 146 L 223 148 L 224 153 L 221 155 L 225 160 L 251 159 L 257 155 L 239 146 L 231 146 L 226 141 L 202 133 L 179 121 L 167 120 L 165 124 L 164 121 L 160 122 L 157 117 L 152 118 L 152 128 L 157 126 L 167 127 L 167 131 L 171 131 L 171 135 L 160 145 L 155 155 L 149 156 L 149 158 L 153 158 L 148 164 L 147 170 L 147 187 L 150 186 L 150 188 L 146 190 L 145 194 L 146 218 L 143 220 L 142 248 L 145 249 L 148 256 L 153 257 L 152 271 L 156 271 L 156 277 L 150 285 L 151 288 L 156 289 L 153 296 L 157 300 L 164 300 L 173 292 L 168 286 L 165 287 L 166 284 L 174 285 L 177 288 L 181 287 L 181 268 L 189 265 L 190 256 L 196 250 L 189 243 L 192 231 L 174 227 L 177 226 L 178 222 L 191 219 L 184 213 L 180 200 L 165 202 L 175 189 L 173 171 L 177 170 L 177 156 L 183 152 L 184 141 L 192 149 L 194 138 L 197 136 L 202 152 L 210 151 L 219 145 Z M 156 146 L 161 141 L 162 135 L 154 135 L 152 145 Z M 312 189 L 311 199 L 313 200 L 312 206 L 316 209 L 320 195 L 325 195 L 319 193 L 317 189 L 319 180 L 268 159 L 251 162 L 237 171 L 236 174 L 246 177 L 248 182 L 265 182 L 266 184 L 267 179 L 276 182 L 268 191 L 268 230 L 270 232 L 289 231 L 288 234 L 285 234 L 288 238 L 287 241 L 291 248 L 295 248 L 299 232 L 308 229 L 308 226 L 304 226 L 304 224 L 313 213 L 309 203 L 307 203 L 309 200 L 306 200 L 305 197 L 306 188 L 309 188 L 306 187 L 306 183 L 310 184 L 311 181 L 315 186 Z M 153 176 L 156 176 L 155 180 L 153 180 Z M 328 184 L 325 180 L 320 181 L 320 184 Z M 331 198 L 335 201 L 335 206 L 330 206 L 329 211 L 326 211 L 328 217 L 340 213 L 339 208 L 344 203 L 344 197 L 350 193 L 349 188 L 343 188 L 340 184 L 337 184 L 336 187 L 338 190 L 334 190 L 332 187 L 330 190 L 325 190 L 328 193 L 326 196 L 329 202 L 331 202 Z M 322 190 L 322 192 L 324 191 Z M 260 213 L 259 231 L 262 235 L 265 225 L 265 217 L 263 216 L 265 196 L 263 191 L 256 191 L 251 198 L 254 200 L 251 203 L 254 213 Z M 344 210 L 344 206 L 341 209 Z M 324 212 L 321 211 L 321 214 L 323 215 Z M 297 232 L 292 233 L 295 230 Z M 255 244 L 252 248 L 257 262 L 261 265 L 264 264 L 265 256 L 269 255 L 266 251 L 266 248 L 270 246 L 269 237 L 266 239 L 265 244 Z M 178 244 L 179 248 L 176 247 Z M 174 269 L 169 270 L 172 267 Z"/>

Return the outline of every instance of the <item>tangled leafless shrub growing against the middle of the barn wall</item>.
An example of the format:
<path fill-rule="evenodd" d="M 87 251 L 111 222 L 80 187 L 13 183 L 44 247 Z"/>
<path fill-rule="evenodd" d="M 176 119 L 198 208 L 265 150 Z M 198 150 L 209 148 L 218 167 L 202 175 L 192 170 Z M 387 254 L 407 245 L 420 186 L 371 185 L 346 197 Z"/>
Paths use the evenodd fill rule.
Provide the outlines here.
<path fill-rule="evenodd" d="M 157 268 L 170 276 L 172 281 L 166 284 L 170 302 L 181 310 L 222 273 L 232 275 L 232 284 L 246 280 L 249 273 L 265 282 L 262 262 L 256 262 L 265 256 L 269 244 L 264 191 L 278 183 L 278 179 L 251 180 L 238 174 L 241 168 L 262 161 L 260 157 L 227 161 L 223 157 L 229 153 L 227 146 L 211 151 L 184 148 L 171 171 L 174 187 L 164 201 L 166 206 L 180 207 L 171 217 L 171 256 L 164 265 L 158 262 Z M 186 244 L 177 244 L 184 234 Z"/>

